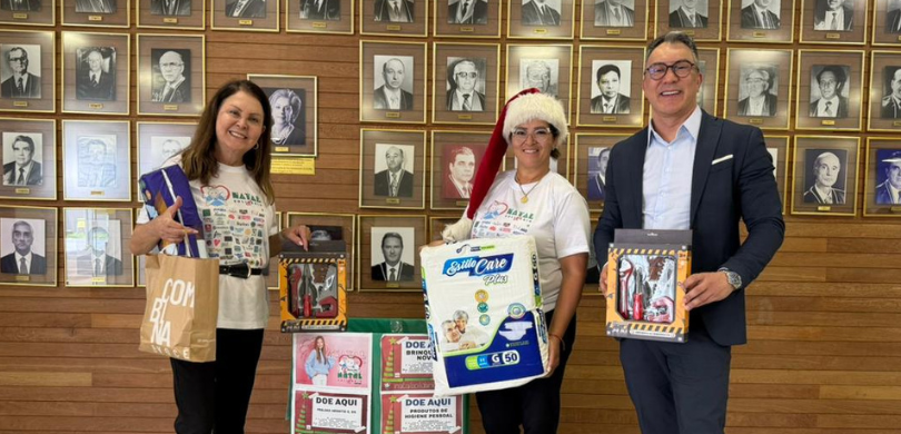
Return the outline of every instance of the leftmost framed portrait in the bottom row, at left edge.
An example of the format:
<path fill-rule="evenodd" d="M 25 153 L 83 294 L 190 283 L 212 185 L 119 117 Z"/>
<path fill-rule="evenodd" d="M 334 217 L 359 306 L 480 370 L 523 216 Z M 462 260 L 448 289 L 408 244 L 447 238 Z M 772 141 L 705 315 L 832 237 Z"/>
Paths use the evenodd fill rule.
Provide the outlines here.
<path fill-rule="evenodd" d="M 0 283 L 57 285 L 57 208 L 0 206 Z"/>

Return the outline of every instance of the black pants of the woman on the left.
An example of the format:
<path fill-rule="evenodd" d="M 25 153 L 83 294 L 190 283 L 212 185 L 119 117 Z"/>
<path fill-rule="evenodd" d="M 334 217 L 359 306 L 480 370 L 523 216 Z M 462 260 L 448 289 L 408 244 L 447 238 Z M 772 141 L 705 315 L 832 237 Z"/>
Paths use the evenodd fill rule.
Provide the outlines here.
<path fill-rule="evenodd" d="M 216 329 L 216 362 L 170 358 L 178 434 L 244 434 L 263 329 Z"/>

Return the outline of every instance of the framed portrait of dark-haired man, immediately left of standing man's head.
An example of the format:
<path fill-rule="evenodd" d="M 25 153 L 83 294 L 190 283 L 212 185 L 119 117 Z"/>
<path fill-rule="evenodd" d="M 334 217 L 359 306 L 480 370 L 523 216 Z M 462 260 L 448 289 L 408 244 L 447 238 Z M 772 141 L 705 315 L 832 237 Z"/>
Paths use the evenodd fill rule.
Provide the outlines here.
<path fill-rule="evenodd" d="M 580 47 L 577 124 L 641 126 L 644 93 L 637 78 L 643 65 L 641 47 Z"/>

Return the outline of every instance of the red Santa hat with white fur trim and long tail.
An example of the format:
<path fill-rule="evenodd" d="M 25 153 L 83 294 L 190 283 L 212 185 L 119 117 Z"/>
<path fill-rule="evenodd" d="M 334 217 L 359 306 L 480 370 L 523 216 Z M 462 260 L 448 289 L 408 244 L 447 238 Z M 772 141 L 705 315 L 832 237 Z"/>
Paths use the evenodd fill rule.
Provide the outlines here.
<path fill-rule="evenodd" d="M 447 225 L 444 228 L 442 237 L 445 241 L 453 243 L 469 239 L 473 229 L 473 216 L 482 206 L 482 201 L 485 200 L 485 196 L 488 194 L 492 184 L 494 184 L 495 176 L 497 176 L 497 170 L 501 169 L 501 164 L 504 161 L 504 155 L 507 152 L 507 146 L 509 145 L 511 134 L 517 126 L 536 119 L 544 120 L 560 132 L 554 141 L 555 148 L 566 141 L 566 136 L 570 134 L 566 126 L 566 112 L 556 98 L 541 93 L 535 88 L 523 90 L 511 98 L 501 111 L 501 117 L 497 119 L 492 137 L 488 140 L 488 148 L 485 150 L 485 156 L 482 157 L 482 162 L 478 164 L 466 215 L 457 223 Z"/>

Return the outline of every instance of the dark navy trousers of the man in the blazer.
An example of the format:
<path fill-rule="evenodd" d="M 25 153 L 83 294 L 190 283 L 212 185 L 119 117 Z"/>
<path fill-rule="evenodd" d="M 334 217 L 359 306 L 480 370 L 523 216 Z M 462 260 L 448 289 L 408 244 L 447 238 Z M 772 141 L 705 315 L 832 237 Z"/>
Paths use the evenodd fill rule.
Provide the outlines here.
<path fill-rule="evenodd" d="M 689 342 L 621 339 L 620 362 L 643 434 L 722 434 L 732 347 L 692 318 Z"/>

